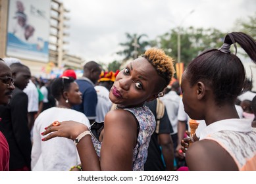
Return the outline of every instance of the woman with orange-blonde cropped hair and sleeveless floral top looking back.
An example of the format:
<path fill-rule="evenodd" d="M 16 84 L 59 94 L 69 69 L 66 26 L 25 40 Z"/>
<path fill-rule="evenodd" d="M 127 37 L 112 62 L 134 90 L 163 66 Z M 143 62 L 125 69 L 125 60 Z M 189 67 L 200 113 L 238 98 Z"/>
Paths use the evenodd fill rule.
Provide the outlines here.
<path fill-rule="evenodd" d="M 42 141 L 74 140 L 81 166 L 73 168 L 79 170 L 143 170 L 155 131 L 154 115 L 143 104 L 162 96 L 173 74 L 172 58 L 161 49 L 148 49 L 116 76 L 109 98 L 117 108 L 107 113 L 104 123 L 91 127 L 73 121 L 51 124 Z"/>

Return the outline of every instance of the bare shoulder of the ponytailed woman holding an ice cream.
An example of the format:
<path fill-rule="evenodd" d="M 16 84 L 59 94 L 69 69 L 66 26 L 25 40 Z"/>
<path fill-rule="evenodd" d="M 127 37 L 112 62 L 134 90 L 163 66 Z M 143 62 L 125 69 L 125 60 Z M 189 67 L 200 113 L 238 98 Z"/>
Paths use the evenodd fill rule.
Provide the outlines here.
<path fill-rule="evenodd" d="M 190 170 L 238 170 L 232 156 L 217 142 L 207 139 L 189 147 L 186 162 Z"/>

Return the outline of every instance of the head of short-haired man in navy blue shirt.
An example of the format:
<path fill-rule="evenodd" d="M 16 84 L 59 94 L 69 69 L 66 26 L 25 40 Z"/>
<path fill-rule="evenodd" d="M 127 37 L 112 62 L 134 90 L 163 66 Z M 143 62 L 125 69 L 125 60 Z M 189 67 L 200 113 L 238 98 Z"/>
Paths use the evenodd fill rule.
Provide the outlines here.
<path fill-rule="evenodd" d="M 96 83 L 99 80 L 101 74 L 101 66 L 95 61 L 87 62 L 84 65 L 84 77 L 90 79 L 93 83 Z"/>

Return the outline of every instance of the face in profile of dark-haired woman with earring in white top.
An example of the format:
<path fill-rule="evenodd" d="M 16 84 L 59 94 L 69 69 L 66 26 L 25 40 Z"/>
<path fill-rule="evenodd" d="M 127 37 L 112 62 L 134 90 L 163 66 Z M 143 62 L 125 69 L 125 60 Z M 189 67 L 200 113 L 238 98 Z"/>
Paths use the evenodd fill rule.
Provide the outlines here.
<path fill-rule="evenodd" d="M 70 87 L 67 93 L 68 102 L 71 105 L 82 103 L 82 93 L 79 91 L 78 84 L 75 81 L 70 83 Z"/>

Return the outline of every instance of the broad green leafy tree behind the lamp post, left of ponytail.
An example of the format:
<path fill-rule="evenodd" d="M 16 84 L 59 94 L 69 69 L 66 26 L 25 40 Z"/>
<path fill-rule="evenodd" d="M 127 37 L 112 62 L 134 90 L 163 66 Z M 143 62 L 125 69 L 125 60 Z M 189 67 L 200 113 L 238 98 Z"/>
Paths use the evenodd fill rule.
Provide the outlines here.
<path fill-rule="evenodd" d="M 165 53 L 177 60 L 178 58 L 178 31 L 180 32 L 181 62 L 185 66 L 205 49 L 218 48 L 222 45 L 224 34 L 214 28 L 174 28 L 158 37 L 155 45 L 163 48 Z M 154 43 L 153 41 L 151 43 Z"/>

